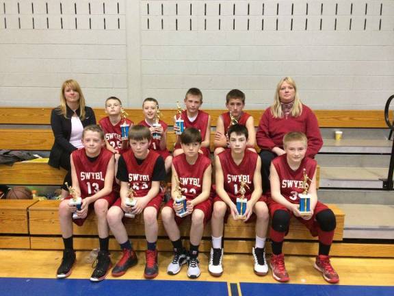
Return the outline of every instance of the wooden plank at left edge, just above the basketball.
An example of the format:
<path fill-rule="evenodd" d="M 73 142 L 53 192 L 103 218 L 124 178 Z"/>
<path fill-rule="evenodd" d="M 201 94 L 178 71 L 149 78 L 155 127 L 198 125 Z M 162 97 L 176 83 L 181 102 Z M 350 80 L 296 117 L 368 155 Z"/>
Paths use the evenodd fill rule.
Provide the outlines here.
<path fill-rule="evenodd" d="M 54 169 L 46 163 L 16 162 L 11 167 L 0 164 L 0 184 L 60 186 L 64 175 L 64 169 Z"/>

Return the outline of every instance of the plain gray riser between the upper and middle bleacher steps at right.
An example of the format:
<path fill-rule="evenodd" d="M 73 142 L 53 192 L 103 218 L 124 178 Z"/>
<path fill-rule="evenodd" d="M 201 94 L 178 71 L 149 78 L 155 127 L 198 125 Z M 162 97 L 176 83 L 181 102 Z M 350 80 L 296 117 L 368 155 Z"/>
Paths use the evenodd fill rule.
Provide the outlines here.
<path fill-rule="evenodd" d="M 389 155 L 317 154 L 320 167 L 389 167 Z"/>

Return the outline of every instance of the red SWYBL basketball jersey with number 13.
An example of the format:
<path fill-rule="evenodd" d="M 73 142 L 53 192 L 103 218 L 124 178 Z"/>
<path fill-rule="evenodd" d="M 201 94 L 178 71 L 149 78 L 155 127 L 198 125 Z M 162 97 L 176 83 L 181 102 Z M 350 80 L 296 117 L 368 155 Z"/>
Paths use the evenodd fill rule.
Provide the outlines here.
<path fill-rule="evenodd" d="M 90 197 L 104 188 L 105 174 L 112 156 L 113 154 L 104 148 L 94 162 L 88 160 L 85 148 L 75 150 L 71 154 L 82 198 Z"/>

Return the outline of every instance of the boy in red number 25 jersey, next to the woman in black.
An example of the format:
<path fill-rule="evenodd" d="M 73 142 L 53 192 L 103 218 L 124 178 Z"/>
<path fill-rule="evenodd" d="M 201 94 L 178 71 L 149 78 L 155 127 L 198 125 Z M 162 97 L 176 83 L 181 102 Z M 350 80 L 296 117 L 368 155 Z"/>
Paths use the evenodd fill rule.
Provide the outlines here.
<path fill-rule="evenodd" d="M 120 125 L 126 121 L 130 126 L 133 121 L 130 119 L 122 119 L 121 110 L 122 102 L 117 97 L 109 97 L 105 100 L 105 113 L 108 114 L 99 121 L 99 125 L 105 134 L 105 145 L 109 151 L 115 153 L 115 158 L 118 160 L 121 153 L 129 149 L 129 143 L 122 141 L 122 132 Z"/>

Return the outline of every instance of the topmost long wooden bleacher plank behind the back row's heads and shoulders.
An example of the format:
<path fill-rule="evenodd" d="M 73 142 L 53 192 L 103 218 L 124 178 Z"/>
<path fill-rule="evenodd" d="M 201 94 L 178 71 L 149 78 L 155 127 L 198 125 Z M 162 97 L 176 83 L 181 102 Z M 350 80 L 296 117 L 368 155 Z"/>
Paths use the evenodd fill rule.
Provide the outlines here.
<path fill-rule="evenodd" d="M 175 107 L 175 106 L 174 106 Z M 0 124 L 50 124 L 52 108 L 0 108 Z M 204 110 L 204 109 L 203 109 Z M 141 109 L 127 108 L 129 118 L 135 123 L 144 119 Z M 264 110 L 245 110 L 254 117 L 254 124 L 259 125 Z M 94 108 L 97 121 L 105 116 L 103 108 Z M 162 120 L 172 125 L 175 109 L 161 110 Z M 218 116 L 226 110 L 205 110 L 211 114 L 212 126 L 216 125 Z M 374 127 L 384 128 L 382 110 L 314 110 L 320 127 Z"/>

